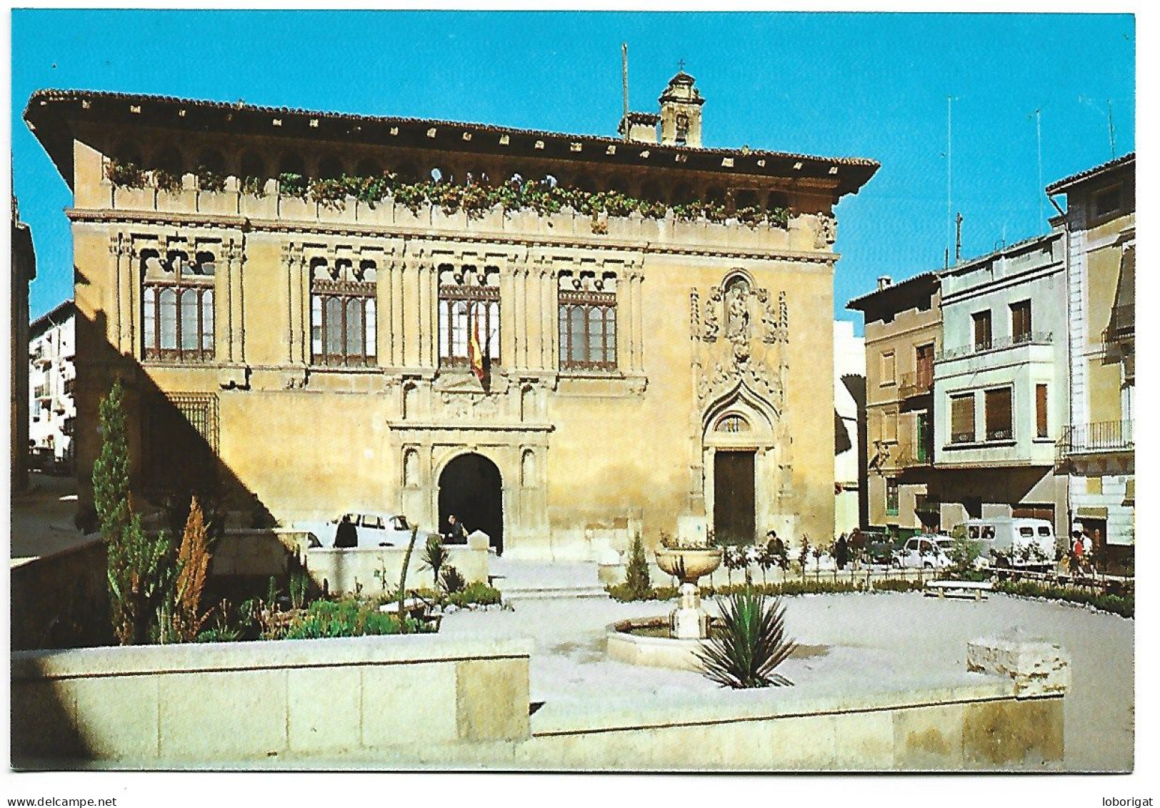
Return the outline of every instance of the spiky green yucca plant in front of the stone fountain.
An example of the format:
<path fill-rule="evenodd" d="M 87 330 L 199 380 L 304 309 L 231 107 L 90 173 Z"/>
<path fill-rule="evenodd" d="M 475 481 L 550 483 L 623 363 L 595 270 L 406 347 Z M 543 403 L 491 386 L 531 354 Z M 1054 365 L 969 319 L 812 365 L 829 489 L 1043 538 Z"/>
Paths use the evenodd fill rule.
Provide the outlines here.
<path fill-rule="evenodd" d="M 723 687 L 792 685 L 774 672 L 797 648 L 793 640 L 785 639 L 781 600 L 742 591 L 719 603 L 720 628 L 697 649 L 702 672 Z"/>

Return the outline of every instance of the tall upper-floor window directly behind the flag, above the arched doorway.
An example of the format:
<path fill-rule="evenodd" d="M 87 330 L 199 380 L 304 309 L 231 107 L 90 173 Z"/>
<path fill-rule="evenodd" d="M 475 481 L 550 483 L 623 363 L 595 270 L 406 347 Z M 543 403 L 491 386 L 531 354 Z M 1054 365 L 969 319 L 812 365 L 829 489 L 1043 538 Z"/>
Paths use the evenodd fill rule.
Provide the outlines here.
<path fill-rule="evenodd" d="M 498 267 L 454 267 L 438 272 L 438 356 L 444 367 L 467 367 L 472 333 L 485 365 L 500 361 L 500 273 Z"/>

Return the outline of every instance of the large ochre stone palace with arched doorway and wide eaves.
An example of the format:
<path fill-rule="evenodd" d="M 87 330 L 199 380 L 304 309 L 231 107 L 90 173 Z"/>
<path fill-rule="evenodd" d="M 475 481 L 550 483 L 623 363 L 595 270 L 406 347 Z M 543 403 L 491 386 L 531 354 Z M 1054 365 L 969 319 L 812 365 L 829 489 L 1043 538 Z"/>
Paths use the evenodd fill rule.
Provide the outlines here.
<path fill-rule="evenodd" d="M 79 421 L 121 377 L 135 491 L 241 521 L 454 512 L 537 558 L 828 535 L 833 209 L 878 164 L 703 147 L 703 102 L 679 73 L 610 138 L 34 94 Z"/>

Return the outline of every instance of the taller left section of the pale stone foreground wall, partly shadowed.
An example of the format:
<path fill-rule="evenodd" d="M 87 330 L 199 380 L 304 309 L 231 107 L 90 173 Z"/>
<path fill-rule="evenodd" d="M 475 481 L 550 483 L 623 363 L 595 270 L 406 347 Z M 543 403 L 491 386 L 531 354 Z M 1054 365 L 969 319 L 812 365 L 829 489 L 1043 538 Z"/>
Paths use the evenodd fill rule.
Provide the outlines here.
<path fill-rule="evenodd" d="M 16 652 L 13 759 L 211 766 L 520 741 L 530 650 L 414 635 Z"/>

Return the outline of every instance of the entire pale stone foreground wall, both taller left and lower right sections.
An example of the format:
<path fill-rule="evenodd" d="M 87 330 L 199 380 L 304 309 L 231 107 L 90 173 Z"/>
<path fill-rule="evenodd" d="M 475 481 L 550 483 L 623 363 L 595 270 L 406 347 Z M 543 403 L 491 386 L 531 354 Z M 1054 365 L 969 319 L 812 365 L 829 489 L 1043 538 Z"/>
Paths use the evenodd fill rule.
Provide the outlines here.
<path fill-rule="evenodd" d="M 531 648 L 427 635 L 17 652 L 14 765 L 1053 771 L 1064 759 L 1067 658 L 1054 645 L 977 641 L 979 672 L 940 687 L 543 705 L 529 704 Z"/>

